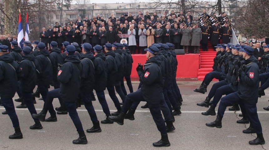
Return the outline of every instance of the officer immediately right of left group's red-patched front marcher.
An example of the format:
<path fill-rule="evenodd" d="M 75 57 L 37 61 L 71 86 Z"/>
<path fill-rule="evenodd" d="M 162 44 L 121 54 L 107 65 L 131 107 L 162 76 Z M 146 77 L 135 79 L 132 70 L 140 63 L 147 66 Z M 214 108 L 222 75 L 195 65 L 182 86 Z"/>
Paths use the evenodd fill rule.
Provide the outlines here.
<path fill-rule="evenodd" d="M 82 47 L 82 70 L 81 70 L 81 97 L 84 102 L 84 106 L 88 111 L 90 118 L 93 122 L 93 127 L 91 129 L 87 129 L 88 133 L 101 132 L 100 124 L 97 119 L 94 106 L 91 100 L 91 93 L 94 90 L 94 82 L 95 82 L 95 66 L 97 66 L 94 61 L 95 57 L 92 50 L 92 45 L 89 43 L 84 43 L 81 45 Z"/>

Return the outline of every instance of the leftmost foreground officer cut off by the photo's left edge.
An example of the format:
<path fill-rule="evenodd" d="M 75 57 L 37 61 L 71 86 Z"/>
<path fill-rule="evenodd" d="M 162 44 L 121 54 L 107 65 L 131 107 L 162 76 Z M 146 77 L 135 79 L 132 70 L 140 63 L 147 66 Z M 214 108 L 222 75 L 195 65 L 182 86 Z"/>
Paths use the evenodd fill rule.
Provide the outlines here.
<path fill-rule="evenodd" d="M 9 138 L 21 139 L 23 138 L 23 134 L 12 98 L 18 89 L 18 80 L 23 77 L 23 73 L 19 64 L 8 54 L 8 46 L 6 45 L 0 46 L 0 66 L 1 104 L 5 107 L 15 129 L 15 133 L 10 135 Z"/>

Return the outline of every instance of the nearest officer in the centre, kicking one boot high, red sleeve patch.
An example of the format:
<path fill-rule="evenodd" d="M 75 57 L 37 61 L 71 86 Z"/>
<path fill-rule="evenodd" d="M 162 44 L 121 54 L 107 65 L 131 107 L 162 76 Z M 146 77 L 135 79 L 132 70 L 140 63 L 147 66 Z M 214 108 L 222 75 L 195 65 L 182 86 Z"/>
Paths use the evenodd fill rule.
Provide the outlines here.
<path fill-rule="evenodd" d="M 168 135 L 165 127 L 165 122 L 162 118 L 160 111 L 160 101 L 163 97 L 163 77 L 161 72 L 160 56 L 158 56 L 159 49 L 155 46 L 150 46 L 147 49 L 147 63 L 145 68 L 140 64 L 136 68 L 139 75 L 142 87 L 133 93 L 127 95 L 122 111 L 118 116 L 109 116 L 109 120 L 117 122 L 120 125 L 124 124 L 124 116 L 131 107 L 134 101 L 146 101 L 150 109 L 150 113 L 157 125 L 158 130 L 161 132 L 161 140 L 153 143 L 155 147 L 170 146 Z M 132 98 L 128 98 L 128 96 Z"/>

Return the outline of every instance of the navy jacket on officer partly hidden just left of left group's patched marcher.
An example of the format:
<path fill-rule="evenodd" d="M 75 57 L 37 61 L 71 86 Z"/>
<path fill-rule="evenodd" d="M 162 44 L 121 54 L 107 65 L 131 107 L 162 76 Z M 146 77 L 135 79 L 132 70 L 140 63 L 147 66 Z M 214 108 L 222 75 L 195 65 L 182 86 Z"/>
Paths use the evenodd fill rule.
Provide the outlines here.
<path fill-rule="evenodd" d="M 53 68 L 53 81 L 57 81 L 58 64 L 62 65 L 64 63 L 64 56 L 58 47 L 53 47 L 49 56 Z"/>

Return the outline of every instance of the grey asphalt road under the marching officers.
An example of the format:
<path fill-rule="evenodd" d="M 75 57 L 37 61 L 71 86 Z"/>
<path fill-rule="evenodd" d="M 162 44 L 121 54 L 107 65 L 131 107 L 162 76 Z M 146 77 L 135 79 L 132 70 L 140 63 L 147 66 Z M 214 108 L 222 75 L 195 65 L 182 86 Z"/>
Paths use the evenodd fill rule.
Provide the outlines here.
<path fill-rule="evenodd" d="M 133 85 L 137 89 L 138 85 Z M 256 134 L 243 134 L 242 130 L 248 128 L 249 124 L 237 124 L 240 111 L 232 112 L 228 109 L 222 120 L 222 128 L 210 128 L 205 124 L 214 121 L 216 116 L 204 116 L 201 112 L 208 108 L 197 106 L 196 103 L 204 101 L 207 94 L 196 93 L 193 90 L 199 85 L 179 85 L 183 97 L 183 105 L 181 106 L 182 114 L 175 116 L 174 126 L 176 130 L 168 133 L 170 147 L 155 148 L 153 142 L 160 140 L 160 132 L 151 117 L 148 109 L 141 109 L 140 106 L 145 102 L 141 102 L 135 112 L 135 120 L 124 120 L 124 125 L 101 124 L 102 132 L 86 133 L 88 144 L 74 145 L 72 140 L 77 139 L 78 135 L 69 115 L 57 115 L 57 122 L 42 122 L 43 129 L 30 130 L 29 126 L 33 125 L 33 119 L 27 109 L 16 109 L 20 127 L 23 133 L 23 139 L 8 139 L 10 134 L 14 133 L 11 120 L 8 115 L 0 115 L 0 149 L 12 150 L 150 150 L 150 149 L 182 149 L 182 150 L 269 150 L 269 112 L 263 110 L 268 106 L 268 94 L 259 98 L 257 109 L 261 121 L 263 135 L 266 140 L 264 145 L 252 146 L 248 144 L 249 140 L 256 138 Z M 208 91 L 211 86 L 208 87 Z M 126 89 L 128 87 L 126 86 Z M 51 89 L 50 89 L 51 90 Z M 129 91 L 128 91 L 129 92 Z M 107 91 L 106 99 L 111 112 L 116 111 L 112 100 Z M 119 96 L 118 96 L 119 97 Z M 15 95 L 14 99 L 18 98 Z M 120 98 L 119 98 L 120 99 Z M 19 105 L 14 101 L 14 105 Z M 93 101 L 99 121 L 105 119 L 102 107 L 98 101 Z M 58 99 L 54 99 L 53 106 L 58 107 Z M 43 101 L 35 104 L 38 113 L 43 108 Z M 218 106 L 217 106 L 218 107 Z M 0 111 L 4 108 L 0 107 Z M 141 111 L 142 110 L 142 111 Z M 217 108 L 216 108 L 217 110 Z M 88 112 L 84 105 L 78 109 L 80 120 L 82 121 L 84 131 L 92 127 Z M 47 115 L 49 117 L 49 114 Z"/>

